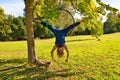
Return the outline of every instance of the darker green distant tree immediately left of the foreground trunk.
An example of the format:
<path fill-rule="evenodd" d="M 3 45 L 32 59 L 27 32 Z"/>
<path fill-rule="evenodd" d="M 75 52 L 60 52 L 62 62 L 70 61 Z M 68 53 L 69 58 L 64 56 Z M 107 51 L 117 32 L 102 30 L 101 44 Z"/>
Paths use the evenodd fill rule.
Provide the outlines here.
<path fill-rule="evenodd" d="M 12 40 L 25 40 L 26 39 L 26 33 L 25 33 L 25 24 L 23 21 L 23 17 L 17 17 L 13 18 L 11 23 L 11 37 Z"/>

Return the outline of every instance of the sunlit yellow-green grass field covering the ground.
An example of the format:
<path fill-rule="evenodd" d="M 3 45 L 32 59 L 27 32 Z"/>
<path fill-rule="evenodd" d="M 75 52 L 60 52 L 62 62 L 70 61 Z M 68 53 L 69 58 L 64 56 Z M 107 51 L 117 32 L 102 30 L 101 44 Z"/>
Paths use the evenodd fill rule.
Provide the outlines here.
<path fill-rule="evenodd" d="M 35 40 L 37 57 L 51 61 L 54 38 Z M 0 42 L 0 80 L 120 80 L 120 33 L 67 37 L 69 62 L 58 58 L 49 68 L 27 64 L 27 42 Z"/>

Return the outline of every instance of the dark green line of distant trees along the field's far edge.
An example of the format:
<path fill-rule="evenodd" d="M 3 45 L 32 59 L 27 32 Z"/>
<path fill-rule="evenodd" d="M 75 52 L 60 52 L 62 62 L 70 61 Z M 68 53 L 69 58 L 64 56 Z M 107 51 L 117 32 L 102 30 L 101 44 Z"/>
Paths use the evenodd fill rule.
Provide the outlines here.
<path fill-rule="evenodd" d="M 84 27 L 84 25 L 76 27 L 70 35 L 88 35 L 97 31 L 92 29 L 89 30 L 88 28 L 83 29 L 82 27 Z M 120 13 L 111 12 L 107 15 L 107 21 L 104 22 L 103 31 L 105 34 L 120 32 Z M 53 33 L 47 28 L 39 23 L 34 23 L 35 38 L 47 39 L 53 36 Z M 16 40 L 26 40 L 25 17 L 6 15 L 4 10 L 0 7 L 0 41 Z"/>

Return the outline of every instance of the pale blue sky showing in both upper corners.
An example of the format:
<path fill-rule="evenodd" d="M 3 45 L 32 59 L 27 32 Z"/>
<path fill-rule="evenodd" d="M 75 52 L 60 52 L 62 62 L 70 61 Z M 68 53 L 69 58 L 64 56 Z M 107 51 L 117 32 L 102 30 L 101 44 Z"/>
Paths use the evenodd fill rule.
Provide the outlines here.
<path fill-rule="evenodd" d="M 120 10 L 120 0 L 102 0 L 104 3 Z M 4 9 L 5 14 L 12 14 L 16 17 L 23 16 L 25 7 L 24 0 L 0 0 L 0 6 Z"/>

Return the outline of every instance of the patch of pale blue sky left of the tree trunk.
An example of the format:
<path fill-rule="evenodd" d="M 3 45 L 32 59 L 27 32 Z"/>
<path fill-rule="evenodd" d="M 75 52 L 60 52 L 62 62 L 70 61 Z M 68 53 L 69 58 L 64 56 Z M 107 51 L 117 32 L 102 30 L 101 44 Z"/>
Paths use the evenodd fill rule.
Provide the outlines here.
<path fill-rule="evenodd" d="M 23 16 L 24 0 L 0 0 L 0 6 L 4 9 L 5 14 Z"/>

